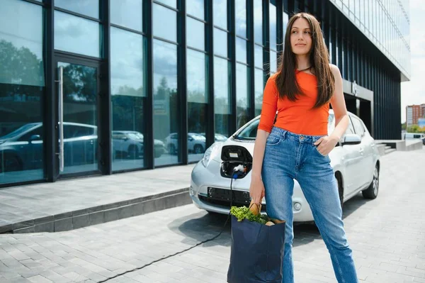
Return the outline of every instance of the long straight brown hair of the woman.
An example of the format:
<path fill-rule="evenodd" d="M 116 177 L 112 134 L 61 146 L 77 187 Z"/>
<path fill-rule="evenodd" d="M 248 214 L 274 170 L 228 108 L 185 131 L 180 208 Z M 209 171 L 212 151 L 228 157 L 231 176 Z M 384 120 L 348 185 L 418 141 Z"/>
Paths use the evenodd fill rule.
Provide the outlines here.
<path fill-rule="evenodd" d="M 297 96 L 302 91 L 295 79 L 295 70 L 297 68 L 297 58 L 292 52 L 290 44 L 290 31 L 293 23 L 298 18 L 305 18 L 310 24 L 312 32 L 312 48 L 310 50 L 311 71 L 317 77 L 317 100 L 313 108 L 318 108 L 327 104 L 334 94 L 335 79 L 329 66 L 329 52 L 323 42 L 322 30 L 319 21 L 310 13 L 297 13 L 292 16 L 288 22 L 285 35 L 285 49 L 283 59 L 280 60 L 278 74 L 276 76 L 276 85 L 279 91 L 280 99 L 288 97 L 290 101 L 297 100 Z"/>

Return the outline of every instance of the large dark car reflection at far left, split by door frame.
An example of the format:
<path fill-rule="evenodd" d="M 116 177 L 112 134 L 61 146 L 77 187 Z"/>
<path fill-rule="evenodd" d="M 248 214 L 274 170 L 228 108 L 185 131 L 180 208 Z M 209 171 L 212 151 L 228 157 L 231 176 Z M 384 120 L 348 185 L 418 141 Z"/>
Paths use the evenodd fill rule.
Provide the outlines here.
<path fill-rule="evenodd" d="M 28 123 L 0 137 L 0 172 L 42 168 L 42 135 L 42 123 Z M 96 162 L 97 138 L 96 126 L 64 122 L 64 165 Z"/>

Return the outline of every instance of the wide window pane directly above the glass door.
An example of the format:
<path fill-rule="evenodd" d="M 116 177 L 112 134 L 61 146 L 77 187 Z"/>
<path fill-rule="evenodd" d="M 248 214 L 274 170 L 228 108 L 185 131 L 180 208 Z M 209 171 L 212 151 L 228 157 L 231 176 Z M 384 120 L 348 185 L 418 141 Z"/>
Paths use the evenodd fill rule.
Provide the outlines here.
<path fill-rule="evenodd" d="M 55 49 L 101 57 L 100 29 L 94 21 L 55 11 Z"/>

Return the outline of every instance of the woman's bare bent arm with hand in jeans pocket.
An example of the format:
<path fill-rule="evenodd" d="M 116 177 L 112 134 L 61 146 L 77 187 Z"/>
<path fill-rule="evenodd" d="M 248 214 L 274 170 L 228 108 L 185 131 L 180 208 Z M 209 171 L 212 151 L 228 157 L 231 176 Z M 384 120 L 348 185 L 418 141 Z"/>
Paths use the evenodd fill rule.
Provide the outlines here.
<path fill-rule="evenodd" d="M 317 145 L 317 150 L 322 155 L 328 155 L 335 145 L 339 142 L 348 128 L 348 114 L 344 99 L 344 91 L 342 90 L 342 77 L 338 67 L 330 65 L 332 74 L 335 78 L 335 91 L 331 98 L 331 106 L 334 109 L 335 128 L 328 137 L 319 138 L 314 145 Z"/>

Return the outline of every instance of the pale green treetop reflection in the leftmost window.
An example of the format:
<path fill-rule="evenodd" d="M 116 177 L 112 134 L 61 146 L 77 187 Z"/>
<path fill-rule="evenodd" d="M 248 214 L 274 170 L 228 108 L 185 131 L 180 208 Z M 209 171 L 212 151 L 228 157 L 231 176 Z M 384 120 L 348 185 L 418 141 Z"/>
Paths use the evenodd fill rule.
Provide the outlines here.
<path fill-rule="evenodd" d="M 26 47 L 0 40 L 0 83 L 44 87 L 42 61 Z"/>

